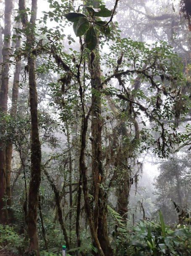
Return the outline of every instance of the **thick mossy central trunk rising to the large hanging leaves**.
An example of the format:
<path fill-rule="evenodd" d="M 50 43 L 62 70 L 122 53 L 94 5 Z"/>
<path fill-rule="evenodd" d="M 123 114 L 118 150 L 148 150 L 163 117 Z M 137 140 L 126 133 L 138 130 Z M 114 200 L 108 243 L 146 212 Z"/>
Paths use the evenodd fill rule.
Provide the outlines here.
<path fill-rule="evenodd" d="M 105 256 L 112 256 L 107 232 L 107 193 L 100 184 L 105 179 L 102 168 L 102 116 L 101 116 L 101 71 L 99 60 L 99 40 L 94 52 L 89 55 L 89 72 L 92 84 L 92 176 L 94 195 L 94 232 Z"/>

